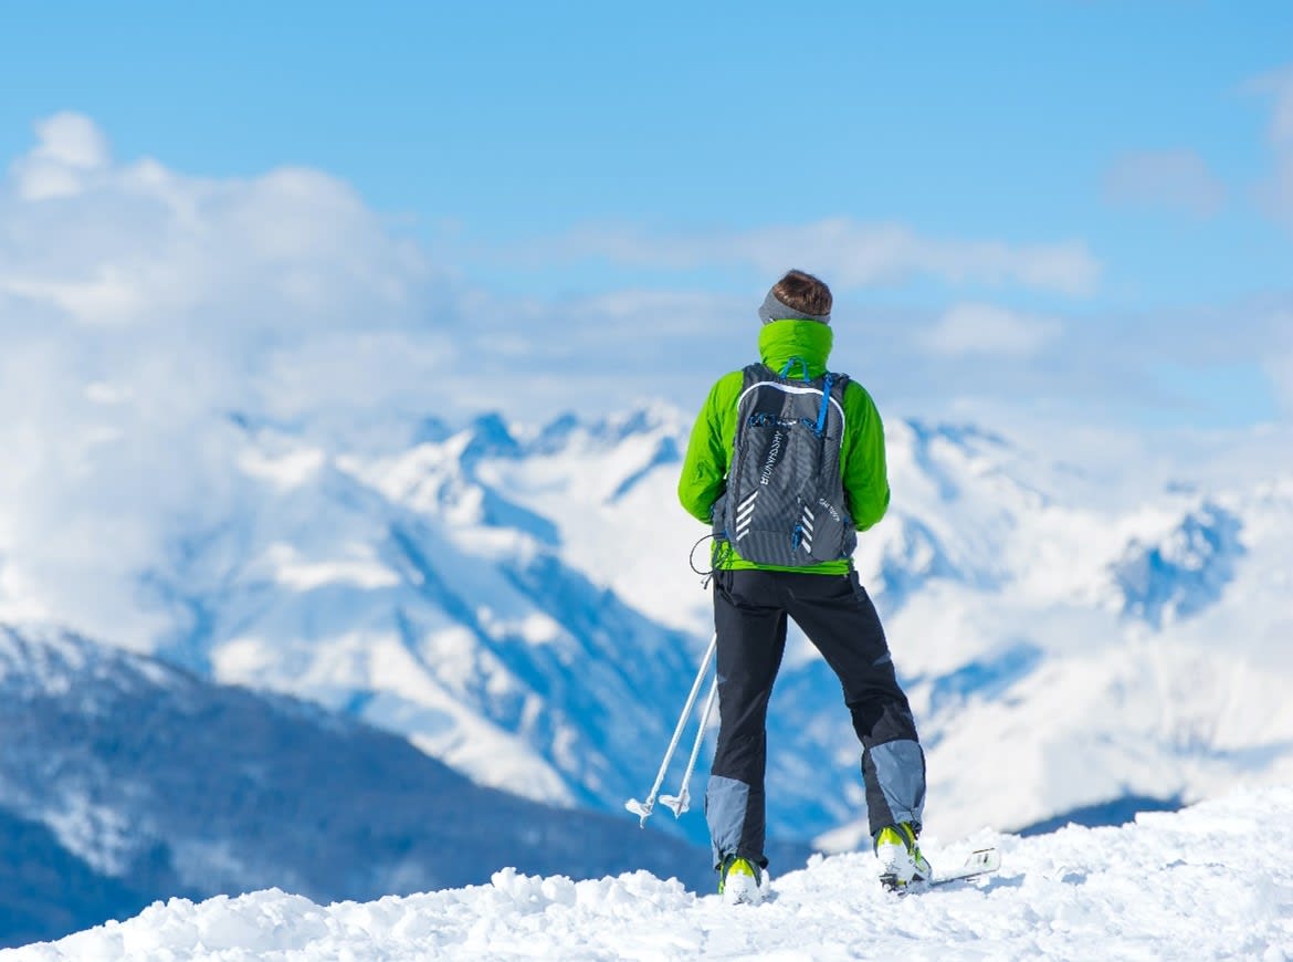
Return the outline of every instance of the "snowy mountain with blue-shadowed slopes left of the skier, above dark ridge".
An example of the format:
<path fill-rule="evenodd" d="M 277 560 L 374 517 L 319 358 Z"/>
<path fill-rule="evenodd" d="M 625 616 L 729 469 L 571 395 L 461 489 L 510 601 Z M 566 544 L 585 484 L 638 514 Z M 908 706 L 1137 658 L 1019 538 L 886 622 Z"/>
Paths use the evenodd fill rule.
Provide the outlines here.
<path fill-rule="evenodd" d="M 244 429 L 248 509 L 145 575 L 173 615 L 160 654 L 538 800 L 618 808 L 640 790 L 697 643 L 562 562 L 548 520 L 476 480 L 517 454 L 498 418 L 375 459 Z"/>

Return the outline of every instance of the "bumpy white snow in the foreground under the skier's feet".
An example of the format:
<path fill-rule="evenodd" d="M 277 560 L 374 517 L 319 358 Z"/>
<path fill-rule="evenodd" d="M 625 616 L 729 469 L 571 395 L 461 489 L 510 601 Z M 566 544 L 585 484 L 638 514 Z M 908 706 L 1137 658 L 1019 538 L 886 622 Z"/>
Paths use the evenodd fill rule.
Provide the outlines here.
<path fill-rule="evenodd" d="M 918 895 L 869 855 L 815 856 L 772 899 L 728 908 L 639 871 L 315 905 L 278 890 L 155 904 L 0 959 L 1293 958 L 1293 787 L 1236 791 L 1117 829 L 928 840 L 935 864 L 1002 851 L 999 874 Z"/>

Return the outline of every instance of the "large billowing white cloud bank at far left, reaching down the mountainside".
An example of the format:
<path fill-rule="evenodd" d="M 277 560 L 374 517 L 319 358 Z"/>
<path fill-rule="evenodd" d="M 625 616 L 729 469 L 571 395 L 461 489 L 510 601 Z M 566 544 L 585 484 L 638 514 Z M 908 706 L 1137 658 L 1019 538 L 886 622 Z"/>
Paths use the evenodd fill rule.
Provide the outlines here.
<path fill-rule="evenodd" d="M 102 573 L 228 512 L 229 415 L 412 418 L 459 361 L 453 284 L 317 171 L 119 163 L 74 114 L 36 133 L 0 184 L 0 617 L 145 637 Z"/>

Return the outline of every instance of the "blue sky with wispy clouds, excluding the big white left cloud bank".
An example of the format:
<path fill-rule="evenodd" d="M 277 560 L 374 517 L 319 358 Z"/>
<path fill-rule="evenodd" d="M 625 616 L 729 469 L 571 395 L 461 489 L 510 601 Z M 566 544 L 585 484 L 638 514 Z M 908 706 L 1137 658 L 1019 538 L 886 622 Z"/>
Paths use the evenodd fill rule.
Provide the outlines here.
<path fill-rule="evenodd" d="M 66 112 L 123 169 L 321 172 L 383 243 L 416 248 L 425 270 L 401 283 L 455 357 L 562 379 L 506 409 L 561 407 L 577 383 L 612 406 L 653 388 L 694 403 L 746 361 L 784 266 L 831 282 L 835 362 L 882 409 L 1138 429 L 1293 409 L 1287 3 L 3 17 L 10 184 L 41 150 L 34 129 Z M 31 247 L 16 228 L 9 243 Z M 94 256 L 63 269 L 102 273 Z"/>

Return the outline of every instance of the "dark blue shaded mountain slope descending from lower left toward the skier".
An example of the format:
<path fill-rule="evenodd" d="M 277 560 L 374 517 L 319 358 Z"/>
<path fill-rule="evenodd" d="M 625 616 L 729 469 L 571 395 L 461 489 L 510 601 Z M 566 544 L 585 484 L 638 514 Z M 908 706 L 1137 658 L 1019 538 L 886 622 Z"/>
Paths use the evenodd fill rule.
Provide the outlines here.
<path fill-rule="evenodd" d="M 631 820 L 482 787 L 403 738 L 65 632 L 0 626 L 0 944 L 272 886 L 374 899 L 512 865 L 709 881 L 703 851 Z"/>

